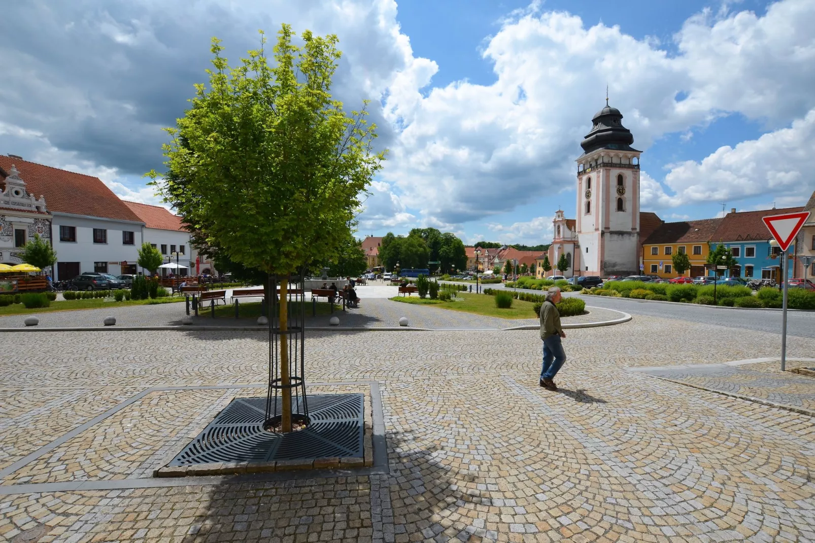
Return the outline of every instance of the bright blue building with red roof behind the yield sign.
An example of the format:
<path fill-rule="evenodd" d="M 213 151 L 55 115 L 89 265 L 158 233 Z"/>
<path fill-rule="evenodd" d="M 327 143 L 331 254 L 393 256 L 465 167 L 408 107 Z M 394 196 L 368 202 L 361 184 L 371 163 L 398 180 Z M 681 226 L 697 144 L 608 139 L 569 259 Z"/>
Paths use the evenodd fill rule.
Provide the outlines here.
<path fill-rule="evenodd" d="M 780 210 L 761 211 L 740 211 L 735 208 L 725 215 L 716 232 L 711 236 L 711 250 L 716 249 L 716 245 L 727 245 L 733 256 L 738 261 L 738 265 L 729 273 L 719 275 L 729 275 L 743 277 L 744 279 L 772 279 L 777 283 L 781 282 L 781 249 L 769 245 L 773 239 L 762 217 L 779 215 L 784 213 L 795 213 L 802 210 L 800 207 L 788 207 Z M 795 254 L 795 244 L 790 245 L 787 254 Z M 793 277 L 793 262 L 790 259 L 787 267 L 787 278 Z M 712 271 L 710 272 L 712 275 Z"/>

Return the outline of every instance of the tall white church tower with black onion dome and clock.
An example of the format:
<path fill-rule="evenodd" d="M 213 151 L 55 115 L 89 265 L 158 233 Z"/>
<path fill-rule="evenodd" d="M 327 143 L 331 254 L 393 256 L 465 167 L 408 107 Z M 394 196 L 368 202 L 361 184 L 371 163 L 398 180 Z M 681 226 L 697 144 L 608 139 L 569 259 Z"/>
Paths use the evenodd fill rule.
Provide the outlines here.
<path fill-rule="evenodd" d="M 595 113 L 577 159 L 579 275 L 639 273 L 640 153 L 623 126 L 623 114 L 606 107 Z"/>

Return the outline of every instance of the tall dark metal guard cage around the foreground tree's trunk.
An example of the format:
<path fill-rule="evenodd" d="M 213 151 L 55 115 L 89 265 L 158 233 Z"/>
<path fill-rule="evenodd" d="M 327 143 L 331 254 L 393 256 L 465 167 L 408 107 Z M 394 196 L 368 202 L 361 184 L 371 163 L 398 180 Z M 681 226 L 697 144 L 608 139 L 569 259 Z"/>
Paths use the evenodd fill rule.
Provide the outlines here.
<path fill-rule="evenodd" d="M 280 281 L 288 281 L 285 299 L 278 299 Z M 305 274 L 299 276 L 269 276 L 267 296 L 269 320 L 269 379 L 266 400 L 267 431 L 283 431 L 283 403 L 290 395 L 292 428 L 300 430 L 308 426 L 306 400 L 305 357 L 306 350 L 306 283 Z M 280 304 L 287 304 L 288 319 L 284 329 L 280 329 Z M 288 371 L 284 372 L 284 360 L 288 359 Z"/>

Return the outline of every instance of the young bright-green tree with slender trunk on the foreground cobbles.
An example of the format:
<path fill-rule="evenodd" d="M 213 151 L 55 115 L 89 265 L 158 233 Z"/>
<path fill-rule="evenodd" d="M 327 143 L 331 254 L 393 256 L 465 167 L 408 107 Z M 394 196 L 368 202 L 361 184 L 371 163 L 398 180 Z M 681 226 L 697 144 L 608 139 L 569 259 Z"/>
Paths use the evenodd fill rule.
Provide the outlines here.
<path fill-rule="evenodd" d="M 280 277 L 285 299 L 292 274 L 337 257 L 385 153 L 372 151 L 376 126 L 365 121 L 365 106 L 349 116 L 332 98 L 337 37 L 306 30 L 300 47 L 288 24 L 278 34 L 271 66 L 263 37 L 236 68 L 213 39 L 209 86 L 196 85 L 192 107 L 168 129 L 173 175 L 149 175 L 207 245 Z M 286 303 L 279 323 L 288 329 Z M 284 385 L 287 345 L 280 343 Z M 285 388 L 284 432 L 292 430 L 289 399 Z"/>

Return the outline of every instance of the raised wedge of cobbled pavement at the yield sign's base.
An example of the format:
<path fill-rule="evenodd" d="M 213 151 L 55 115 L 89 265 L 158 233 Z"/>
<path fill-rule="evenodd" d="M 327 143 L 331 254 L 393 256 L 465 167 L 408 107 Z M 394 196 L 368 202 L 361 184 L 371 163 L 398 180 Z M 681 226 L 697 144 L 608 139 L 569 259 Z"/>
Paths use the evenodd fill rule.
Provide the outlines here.
<path fill-rule="evenodd" d="M 738 366 L 711 364 L 702 367 L 647 369 L 643 373 L 815 412 L 815 378 L 781 372 L 779 364 L 780 362 Z M 812 365 L 813 362 L 791 361 L 787 367 L 806 367 L 807 364 Z"/>

